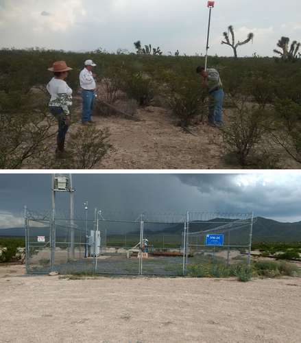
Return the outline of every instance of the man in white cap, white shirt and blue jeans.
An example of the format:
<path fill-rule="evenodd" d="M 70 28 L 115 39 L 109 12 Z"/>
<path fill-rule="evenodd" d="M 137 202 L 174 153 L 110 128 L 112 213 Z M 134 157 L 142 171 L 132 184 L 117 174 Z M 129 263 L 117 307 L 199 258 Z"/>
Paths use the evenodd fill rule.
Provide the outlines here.
<path fill-rule="evenodd" d="M 93 60 L 84 62 L 84 69 L 80 72 L 80 86 L 82 87 L 82 123 L 88 125 L 93 123 L 91 116 L 93 112 L 93 104 L 95 98 L 96 83 L 95 74 L 92 73 L 96 64 Z"/>

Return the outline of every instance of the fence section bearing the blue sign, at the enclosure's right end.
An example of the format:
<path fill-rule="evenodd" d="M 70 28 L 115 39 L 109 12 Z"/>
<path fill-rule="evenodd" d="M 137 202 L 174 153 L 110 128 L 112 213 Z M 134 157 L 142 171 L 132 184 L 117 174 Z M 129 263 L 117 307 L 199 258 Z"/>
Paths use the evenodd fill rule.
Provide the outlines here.
<path fill-rule="evenodd" d="M 250 261 L 252 215 L 189 213 L 186 273 Z"/>

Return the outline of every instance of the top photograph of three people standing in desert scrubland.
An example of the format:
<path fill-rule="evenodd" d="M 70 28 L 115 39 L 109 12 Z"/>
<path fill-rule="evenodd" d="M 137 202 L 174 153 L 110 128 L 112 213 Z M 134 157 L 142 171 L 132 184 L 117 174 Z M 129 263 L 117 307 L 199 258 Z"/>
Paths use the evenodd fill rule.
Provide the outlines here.
<path fill-rule="evenodd" d="M 300 12 L 0 0 L 0 169 L 300 169 Z"/>

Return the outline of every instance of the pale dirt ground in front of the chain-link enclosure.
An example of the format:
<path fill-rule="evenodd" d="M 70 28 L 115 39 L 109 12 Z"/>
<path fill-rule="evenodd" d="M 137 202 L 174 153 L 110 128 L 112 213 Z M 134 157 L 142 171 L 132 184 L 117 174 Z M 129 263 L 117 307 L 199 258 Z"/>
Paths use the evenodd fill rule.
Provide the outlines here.
<path fill-rule="evenodd" d="M 24 274 L 0 268 L 1 342 L 300 342 L 300 278 Z"/>

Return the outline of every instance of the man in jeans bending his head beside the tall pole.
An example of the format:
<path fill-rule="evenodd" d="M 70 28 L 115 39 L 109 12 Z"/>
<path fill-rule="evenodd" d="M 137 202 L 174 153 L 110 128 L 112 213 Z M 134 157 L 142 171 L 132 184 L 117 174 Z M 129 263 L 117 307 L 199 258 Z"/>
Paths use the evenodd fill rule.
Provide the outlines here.
<path fill-rule="evenodd" d="M 224 90 L 219 72 L 216 69 L 197 67 L 197 73 L 203 78 L 203 85 L 208 88 L 209 94 L 209 114 L 208 121 L 210 126 L 223 125 L 223 102 Z"/>

